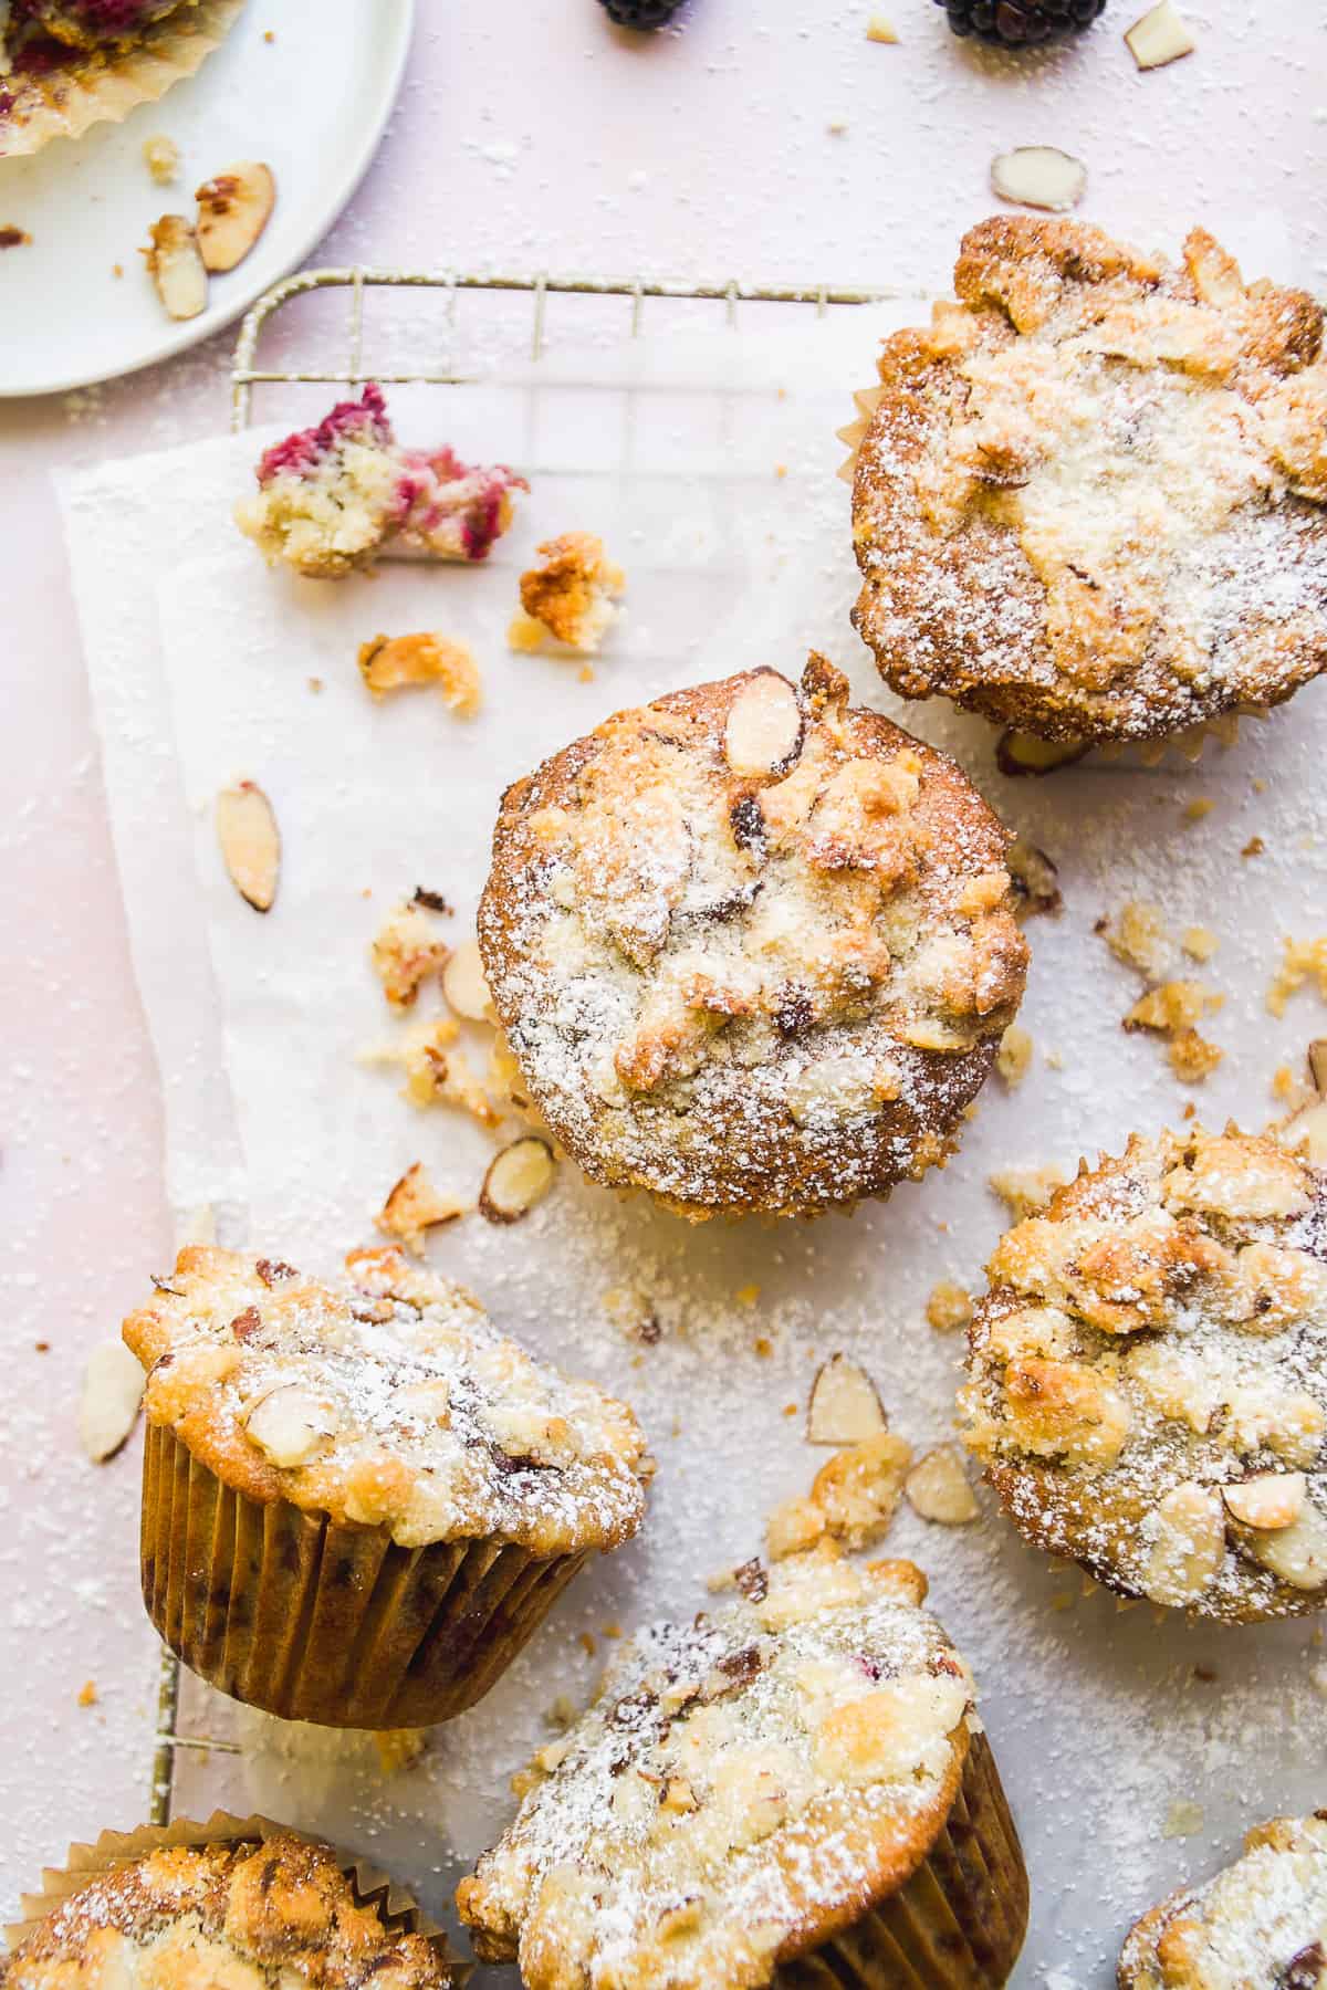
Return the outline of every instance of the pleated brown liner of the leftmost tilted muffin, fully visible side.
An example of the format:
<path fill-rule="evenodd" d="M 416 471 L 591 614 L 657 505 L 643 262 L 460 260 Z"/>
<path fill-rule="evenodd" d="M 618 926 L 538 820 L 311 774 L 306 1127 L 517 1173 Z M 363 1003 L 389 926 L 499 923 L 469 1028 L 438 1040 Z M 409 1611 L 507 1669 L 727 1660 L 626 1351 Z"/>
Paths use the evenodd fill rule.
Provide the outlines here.
<path fill-rule="evenodd" d="M 487 1693 L 585 1554 L 398 1546 L 227 1487 L 173 1431 L 143 1445 L 147 1616 L 209 1686 L 288 1721 L 430 1727 Z"/>

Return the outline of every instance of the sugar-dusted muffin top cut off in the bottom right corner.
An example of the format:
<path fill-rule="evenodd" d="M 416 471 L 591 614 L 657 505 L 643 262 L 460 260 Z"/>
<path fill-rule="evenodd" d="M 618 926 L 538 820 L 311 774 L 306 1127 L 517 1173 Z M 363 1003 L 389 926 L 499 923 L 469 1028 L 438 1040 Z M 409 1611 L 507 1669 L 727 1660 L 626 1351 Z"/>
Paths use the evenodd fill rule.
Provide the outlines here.
<path fill-rule="evenodd" d="M 1120 1990 L 1315 1990 L 1327 1976 L 1327 1811 L 1273 1817 L 1206 1887 L 1130 1930 Z"/>

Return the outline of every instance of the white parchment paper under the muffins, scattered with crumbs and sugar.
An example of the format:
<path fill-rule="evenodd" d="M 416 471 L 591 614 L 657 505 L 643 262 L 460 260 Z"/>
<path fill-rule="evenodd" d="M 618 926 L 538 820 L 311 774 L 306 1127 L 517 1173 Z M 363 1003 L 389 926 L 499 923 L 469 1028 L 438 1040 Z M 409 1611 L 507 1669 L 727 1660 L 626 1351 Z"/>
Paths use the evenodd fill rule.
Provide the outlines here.
<path fill-rule="evenodd" d="M 1327 923 L 1325 687 L 1198 766 L 1088 760 L 1043 782 L 999 776 L 977 720 L 901 710 L 883 691 L 848 623 L 834 428 L 871 378 L 881 326 L 917 308 L 398 394 L 406 438 L 446 430 L 462 454 L 531 476 L 481 569 L 390 565 L 344 585 L 267 573 L 227 523 L 253 436 L 107 466 L 64 492 L 171 1194 L 181 1210 L 221 1206 L 225 1236 L 330 1270 L 372 1238 L 410 1162 L 477 1190 L 489 1136 L 458 1112 L 416 1112 L 398 1075 L 362 1061 L 396 1033 L 368 943 L 416 886 L 450 899 L 464 937 L 501 786 L 621 704 L 754 663 L 796 673 L 814 643 L 861 698 L 955 750 L 1060 866 L 1062 915 L 1029 925 L 1033 1071 L 1015 1093 L 991 1083 L 943 1174 L 853 1218 L 688 1228 L 565 1164 L 521 1226 L 472 1216 L 432 1242 L 432 1262 L 505 1329 L 631 1397 L 661 1459 L 647 1530 L 581 1578 L 410 1771 L 384 1779 L 372 1743 L 249 1715 L 191 1682 L 187 1729 L 243 1753 L 181 1755 L 177 1773 L 177 1809 L 243 1799 L 326 1829 L 394 1867 L 430 1910 L 509 1815 L 507 1777 L 547 1737 L 555 1697 L 585 1693 L 619 1630 L 702 1606 L 704 1578 L 750 1554 L 768 1506 L 806 1489 L 824 1459 L 802 1439 L 820 1359 L 861 1359 L 917 1445 L 947 1435 L 959 1345 L 923 1305 L 939 1278 L 979 1282 L 1005 1226 L 993 1168 L 1072 1170 L 1178 1120 L 1190 1098 L 1208 1122 L 1261 1124 L 1277 1063 L 1299 1067 L 1323 1025 L 1311 993 L 1277 1023 L 1265 987 L 1283 935 Z M 573 527 L 601 531 L 631 581 L 629 621 L 589 683 L 577 663 L 503 641 L 535 541 Z M 406 629 L 472 643 L 477 718 L 430 693 L 372 704 L 356 647 Z M 215 846 L 213 798 L 235 778 L 259 780 L 281 822 L 269 917 L 235 896 Z M 1190 820 L 1198 798 L 1216 806 Z M 1243 854 L 1253 838 L 1261 852 Z M 1120 1029 L 1140 985 L 1092 927 L 1130 897 L 1160 903 L 1176 933 L 1220 935 L 1212 965 L 1188 967 L 1226 997 L 1208 1031 L 1226 1061 L 1200 1091 L 1176 1083 L 1156 1041 Z M 655 1345 L 615 1317 L 627 1292 L 653 1305 Z M 1033 1879 L 1017 1984 L 1106 1990 L 1124 1928 L 1164 1889 L 1212 1871 L 1247 1825 L 1323 1803 L 1327 1670 L 1311 1622 L 1224 1630 L 1120 1612 L 989 1504 L 963 1530 L 903 1514 L 889 1552 L 929 1570 L 931 1604 L 983 1688 Z"/>

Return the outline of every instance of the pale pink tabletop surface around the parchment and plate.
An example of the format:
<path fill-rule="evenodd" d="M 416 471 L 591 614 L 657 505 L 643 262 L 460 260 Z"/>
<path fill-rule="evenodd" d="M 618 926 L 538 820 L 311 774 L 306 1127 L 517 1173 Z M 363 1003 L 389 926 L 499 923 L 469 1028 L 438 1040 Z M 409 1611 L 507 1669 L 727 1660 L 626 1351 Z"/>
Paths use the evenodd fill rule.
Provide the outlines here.
<path fill-rule="evenodd" d="M 883 0 L 895 48 L 865 40 L 865 4 L 690 0 L 680 32 L 637 40 L 595 0 L 420 0 L 382 153 L 312 261 L 935 287 L 961 227 L 995 205 L 991 155 L 1058 143 L 1088 165 L 1088 219 L 1170 245 L 1204 219 L 1249 273 L 1323 289 L 1321 12 L 1182 6 L 1198 54 L 1138 76 L 1120 42 L 1132 0 L 1070 52 L 1021 64 L 953 44 L 931 0 Z M 4 1910 L 70 1837 L 145 1813 L 137 1447 L 88 1465 L 74 1407 L 86 1349 L 171 1242 L 46 472 L 219 432 L 229 346 L 0 412 Z"/>

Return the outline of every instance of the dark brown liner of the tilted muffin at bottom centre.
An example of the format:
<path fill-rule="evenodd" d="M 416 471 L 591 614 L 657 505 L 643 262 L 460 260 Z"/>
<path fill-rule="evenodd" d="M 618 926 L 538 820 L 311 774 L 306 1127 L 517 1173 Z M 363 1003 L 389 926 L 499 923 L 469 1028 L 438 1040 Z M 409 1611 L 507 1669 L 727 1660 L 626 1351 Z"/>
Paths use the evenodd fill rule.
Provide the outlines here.
<path fill-rule="evenodd" d="M 985 1735 L 905 1887 L 770 1978 L 770 1990 L 999 1990 L 1027 1934 L 1023 1847 Z"/>

